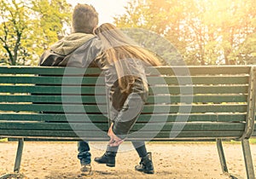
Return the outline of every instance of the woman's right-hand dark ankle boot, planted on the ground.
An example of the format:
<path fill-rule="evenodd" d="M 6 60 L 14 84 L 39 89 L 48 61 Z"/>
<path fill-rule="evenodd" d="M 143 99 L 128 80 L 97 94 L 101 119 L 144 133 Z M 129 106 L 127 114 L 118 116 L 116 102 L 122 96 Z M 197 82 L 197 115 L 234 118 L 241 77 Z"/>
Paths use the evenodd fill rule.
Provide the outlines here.
<path fill-rule="evenodd" d="M 152 163 L 151 153 L 148 153 L 145 157 L 141 158 L 140 165 L 136 165 L 135 170 L 148 174 L 154 174 L 154 166 Z"/>

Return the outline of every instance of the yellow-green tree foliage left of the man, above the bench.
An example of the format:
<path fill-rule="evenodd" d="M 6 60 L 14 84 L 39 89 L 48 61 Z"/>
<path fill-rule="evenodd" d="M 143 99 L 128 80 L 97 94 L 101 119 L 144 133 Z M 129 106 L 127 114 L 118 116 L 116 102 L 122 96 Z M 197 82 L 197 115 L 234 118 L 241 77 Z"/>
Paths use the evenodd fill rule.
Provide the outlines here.
<path fill-rule="evenodd" d="M 61 0 L 0 1 L 0 64 L 35 65 L 70 26 L 71 5 Z"/>

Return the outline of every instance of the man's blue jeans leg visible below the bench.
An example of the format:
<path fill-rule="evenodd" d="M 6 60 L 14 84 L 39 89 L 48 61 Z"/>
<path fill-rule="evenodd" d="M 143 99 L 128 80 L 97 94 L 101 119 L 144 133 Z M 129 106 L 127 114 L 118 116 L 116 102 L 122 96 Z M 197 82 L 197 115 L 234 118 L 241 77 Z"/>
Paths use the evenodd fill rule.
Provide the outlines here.
<path fill-rule="evenodd" d="M 81 165 L 90 164 L 90 147 L 88 141 L 79 141 L 78 142 L 78 158 Z"/>

